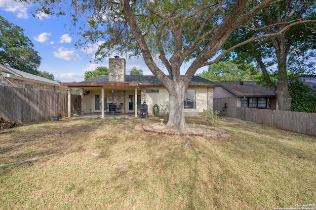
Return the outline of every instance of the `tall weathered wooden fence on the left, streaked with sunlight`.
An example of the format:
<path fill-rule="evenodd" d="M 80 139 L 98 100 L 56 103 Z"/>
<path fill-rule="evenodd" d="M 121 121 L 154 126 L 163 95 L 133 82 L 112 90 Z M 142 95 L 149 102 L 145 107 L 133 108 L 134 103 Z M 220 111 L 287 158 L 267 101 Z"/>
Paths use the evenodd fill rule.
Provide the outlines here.
<path fill-rule="evenodd" d="M 79 97 L 72 95 L 73 105 L 78 103 Z M 64 118 L 67 101 L 67 93 L 0 86 L 0 117 L 18 123 L 49 120 L 53 115 Z"/>

